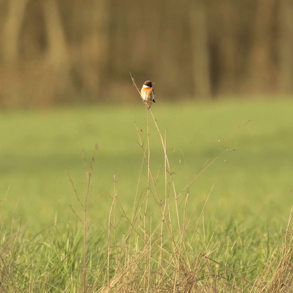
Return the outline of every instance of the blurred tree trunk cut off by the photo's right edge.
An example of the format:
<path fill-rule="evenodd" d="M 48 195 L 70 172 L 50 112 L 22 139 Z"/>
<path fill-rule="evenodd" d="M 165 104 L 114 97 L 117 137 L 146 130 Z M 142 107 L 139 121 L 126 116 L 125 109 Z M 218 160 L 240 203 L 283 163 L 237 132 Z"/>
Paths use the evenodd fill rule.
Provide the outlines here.
<path fill-rule="evenodd" d="M 293 90 L 293 1 L 279 2 L 279 64 L 278 88 L 283 93 Z"/>

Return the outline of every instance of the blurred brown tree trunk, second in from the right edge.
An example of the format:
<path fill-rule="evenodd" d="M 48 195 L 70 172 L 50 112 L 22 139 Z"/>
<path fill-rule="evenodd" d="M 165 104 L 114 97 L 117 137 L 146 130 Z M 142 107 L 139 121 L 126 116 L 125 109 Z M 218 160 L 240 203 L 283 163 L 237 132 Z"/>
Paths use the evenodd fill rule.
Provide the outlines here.
<path fill-rule="evenodd" d="M 251 52 L 248 60 L 248 91 L 272 90 L 272 13 L 275 0 L 258 0 Z"/>

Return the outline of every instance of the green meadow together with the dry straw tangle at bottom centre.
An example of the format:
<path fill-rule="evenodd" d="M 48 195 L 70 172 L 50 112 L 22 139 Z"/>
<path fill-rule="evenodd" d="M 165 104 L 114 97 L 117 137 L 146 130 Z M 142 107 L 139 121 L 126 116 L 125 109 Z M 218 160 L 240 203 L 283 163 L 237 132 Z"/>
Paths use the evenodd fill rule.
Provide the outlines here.
<path fill-rule="evenodd" d="M 82 292 L 83 225 L 72 209 L 82 218 L 74 188 L 83 201 L 85 166 L 88 170 L 96 144 L 88 202 L 97 200 L 86 216 L 86 292 L 289 288 L 285 281 L 279 287 L 272 283 L 278 261 L 285 258 L 292 207 L 292 108 L 288 98 L 158 101 L 151 109 L 163 141 L 166 133 L 172 176 L 165 173 L 161 137 L 150 113 L 147 123 L 143 104 L 2 111 L 3 292 Z M 170 206 L 160 205 L 165 195 Z M 164 228 L 163 206 L 169 211 Z M 168 225 L 174 233 L 163 239 Z M 286 263 L 292 261 L 289 240 Z M 180 287 L 185 283 L 189 287 Z"/>

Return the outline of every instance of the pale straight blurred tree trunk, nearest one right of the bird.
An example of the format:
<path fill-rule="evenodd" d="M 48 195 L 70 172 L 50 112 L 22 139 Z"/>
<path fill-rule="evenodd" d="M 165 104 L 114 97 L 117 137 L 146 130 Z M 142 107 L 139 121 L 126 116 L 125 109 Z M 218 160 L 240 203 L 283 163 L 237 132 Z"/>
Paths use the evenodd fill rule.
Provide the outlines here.
<path fill-rule="evenodd" d="M 193 56 L 194 95 L 206 98 L 211 95 L 207 14 L 204 0 L 191 1 L 190 28 Z"/>

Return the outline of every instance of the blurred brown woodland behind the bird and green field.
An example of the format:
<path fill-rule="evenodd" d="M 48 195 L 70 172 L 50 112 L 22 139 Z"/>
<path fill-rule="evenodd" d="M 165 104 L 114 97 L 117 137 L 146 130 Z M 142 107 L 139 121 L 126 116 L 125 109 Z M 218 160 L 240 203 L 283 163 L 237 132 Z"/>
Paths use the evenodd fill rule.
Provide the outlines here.
<path fill-rule="evenodd" d="M 1 0 L 0 105 L 293 93 L 292 0 Z"/>

